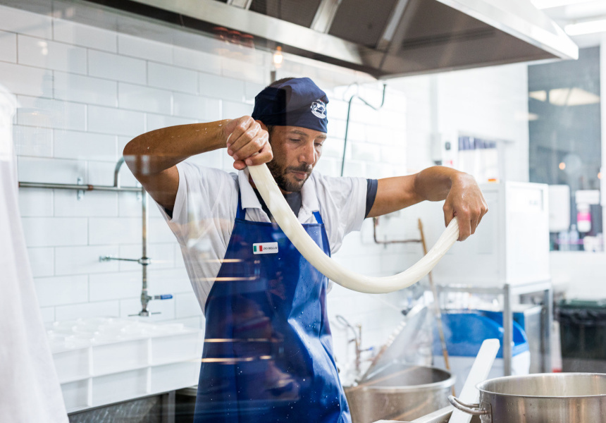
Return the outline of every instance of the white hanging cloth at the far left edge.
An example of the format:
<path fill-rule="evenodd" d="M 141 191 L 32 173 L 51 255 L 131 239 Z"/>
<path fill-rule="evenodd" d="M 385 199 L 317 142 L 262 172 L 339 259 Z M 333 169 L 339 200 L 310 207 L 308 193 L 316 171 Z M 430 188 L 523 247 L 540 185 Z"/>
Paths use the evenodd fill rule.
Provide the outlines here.
<path fill-rule="evenodd" d="M 67 423 L 18 210 L 15 109 L 0 85 L 0 421 Z"/>

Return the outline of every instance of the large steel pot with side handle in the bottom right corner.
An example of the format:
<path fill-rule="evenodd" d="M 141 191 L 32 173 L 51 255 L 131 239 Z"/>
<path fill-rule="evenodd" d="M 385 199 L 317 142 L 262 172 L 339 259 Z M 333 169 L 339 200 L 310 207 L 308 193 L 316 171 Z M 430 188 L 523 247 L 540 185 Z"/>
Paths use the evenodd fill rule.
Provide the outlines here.
<path fill-rule="evenodd" d="M 606 374 L 546 373 L 506 376 L 477 385 L 480 402 L 450 403 L 483 423 L 606 422 Z"/>

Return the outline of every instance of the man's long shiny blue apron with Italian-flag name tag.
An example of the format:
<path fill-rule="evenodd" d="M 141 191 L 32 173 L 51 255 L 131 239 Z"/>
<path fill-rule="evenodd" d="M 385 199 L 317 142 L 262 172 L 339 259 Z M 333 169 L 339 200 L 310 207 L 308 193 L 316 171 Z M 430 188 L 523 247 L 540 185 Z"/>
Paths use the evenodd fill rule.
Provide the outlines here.
<path fill-rule="evenodd" d="M 303 225 L 327 255 L 318 223 Z M 328 279 L 274 223 L 237 215 L 206 300 L 194 423 L 350 423 L 326 315 Z"/>

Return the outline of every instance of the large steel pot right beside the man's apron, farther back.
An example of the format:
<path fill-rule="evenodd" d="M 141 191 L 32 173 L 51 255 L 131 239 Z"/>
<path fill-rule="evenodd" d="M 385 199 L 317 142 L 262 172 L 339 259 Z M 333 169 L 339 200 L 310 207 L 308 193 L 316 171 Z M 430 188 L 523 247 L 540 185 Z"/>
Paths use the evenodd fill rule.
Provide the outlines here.
<path fill-rule="evenodd" d="M 435 367 L 397 364 L 345 388 L 353 423 L 412 420 L 448 405 L 455 376 Z"/>

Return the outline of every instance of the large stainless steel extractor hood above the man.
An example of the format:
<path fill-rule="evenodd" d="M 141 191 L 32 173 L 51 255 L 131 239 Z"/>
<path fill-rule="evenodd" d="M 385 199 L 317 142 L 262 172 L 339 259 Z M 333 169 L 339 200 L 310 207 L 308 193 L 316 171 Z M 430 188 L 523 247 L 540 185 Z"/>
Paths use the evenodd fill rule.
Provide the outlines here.
<path fill-rule="evenodd" d="M 530 0 L 90 0 L 376 78 L 577 59 Z"/>

